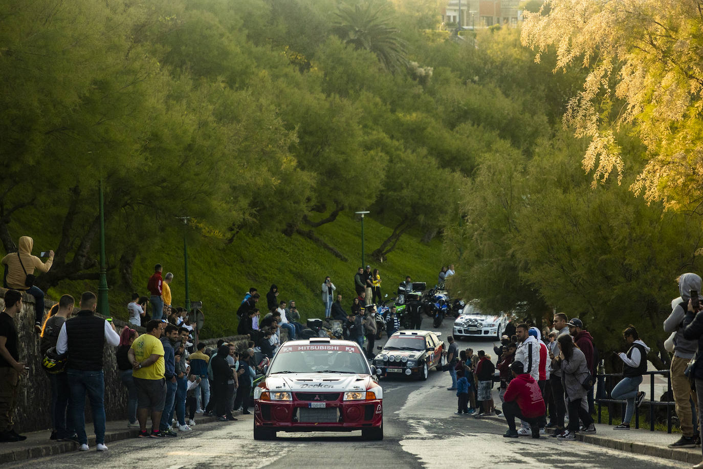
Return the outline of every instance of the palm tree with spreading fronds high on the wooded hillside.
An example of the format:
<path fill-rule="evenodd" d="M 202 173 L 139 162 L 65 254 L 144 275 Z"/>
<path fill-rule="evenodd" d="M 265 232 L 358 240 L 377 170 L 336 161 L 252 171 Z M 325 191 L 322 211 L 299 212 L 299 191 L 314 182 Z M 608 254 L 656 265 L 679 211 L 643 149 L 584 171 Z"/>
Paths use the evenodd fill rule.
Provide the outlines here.
<path fill-rule="evenodd" d="M 354 8 L 345 6 L 335 14 L 340 20 L 335 22 L 333 30 L 345 44 L 375 53 L 389 72 L 406 67 L 406 42 L 399 37 L 400 31 L 389 25 L 385 5 L 368 2 L 363 6 L 354 5 Z"/>

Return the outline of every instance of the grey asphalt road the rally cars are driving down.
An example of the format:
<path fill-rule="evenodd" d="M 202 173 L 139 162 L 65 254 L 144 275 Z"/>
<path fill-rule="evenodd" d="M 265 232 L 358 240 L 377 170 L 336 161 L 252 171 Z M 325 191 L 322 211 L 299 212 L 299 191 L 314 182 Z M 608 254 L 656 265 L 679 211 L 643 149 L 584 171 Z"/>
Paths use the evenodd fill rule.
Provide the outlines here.
<path fill-rule="evenodd" d="M 424 321 L 429 325 L 429 320 Z M 449 333 L 447 321 L 441 332 Z M 493 342 L 464 341 L 475 352 Z M 183 437 L 129 439 L 109 450 L 41 458 L 7 467 L 125 468 L 676 468 L 674 461 L 637 456 L 582 442 L 543 437 L 505 439 L 501 418 L 477 420 L 455 416 L 456 396 L 446 390 L 449 373 L 430 372 L 427 381 L 382 380 L 382 442 L 367 442 L 361 432 L 279 434 L 272 442 L 254 442 L 252 416 L 233 423 L 195 425 Z M 497 399 L 497 397 L 496 397 Z M 197 420 L 197 418 L 196 418 Z M 89 429 L 91 430 L 91 429 Z"/>

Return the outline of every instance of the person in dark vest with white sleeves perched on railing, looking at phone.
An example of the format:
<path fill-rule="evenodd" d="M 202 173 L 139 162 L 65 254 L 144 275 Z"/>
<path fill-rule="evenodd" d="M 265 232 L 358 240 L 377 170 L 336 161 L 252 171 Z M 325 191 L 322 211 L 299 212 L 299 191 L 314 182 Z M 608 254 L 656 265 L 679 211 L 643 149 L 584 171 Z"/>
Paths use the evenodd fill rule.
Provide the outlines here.
<path fill-rule="evenodd" d="M 642 375 L 647 371 L 647 354 L 650 352 L 650 347 L 647 347 L 645 342 L 640 340 L 635 326 L 628 326 L 622 331 L 622 336 L 631 347 L 627 353 L 618 354 L 623 362 L 623 378 L 610 392 L 610 397 L 626 399 L 627 401 L 625 416 L 622 423 L 615 427 L 615 430 L 630 430 L 632 414 L 635 412 L 635 408 L 642 404 L 645 397 L 645 393 L 639 388 L 642 383 Z"/>

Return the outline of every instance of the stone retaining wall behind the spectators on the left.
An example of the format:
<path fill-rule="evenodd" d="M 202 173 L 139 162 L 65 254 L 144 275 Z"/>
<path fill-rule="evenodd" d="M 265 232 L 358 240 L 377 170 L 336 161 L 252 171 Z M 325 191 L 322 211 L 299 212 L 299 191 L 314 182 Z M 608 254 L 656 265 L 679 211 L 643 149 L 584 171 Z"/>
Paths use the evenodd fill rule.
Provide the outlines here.
<path fill-rule="evenodd" d="M 0 309 L 5 307 L 4 288 L 0 288 Z M 30 432 L 51 428 L 51 416 L 49 408 L 51 406 L 51 387 L 44 369 L 41 368 L 41 357 L 39 355 L 39 335 L 34 333 L 34 297 L 22 295 L 22 311 L 15 317 L 15 326 L 19 335 L 18 349 L 20 361 L 25 361 L 30 370 L 24 378 L 20 379 L 18 390 L 18 404 L 15 411 L 15 429 L 18 432 Z M 53 304 L 46 300 L 46 310 Z M 77 309 L 76 309 L 77 311 Z M 99 316 L 99 315 L 98 315 Z M 128 324 L 124 321 L 114 319 L 115 329 L 120 330 Z M 132 326 L 134 328 L 134 326 Z M 139 335 L 146 333 L 146 330 L 137 327 Z M 238 349 L 246 347 L 246 340 L 242 336 L 225 338 L 232 340 L 238 345 Z M 217 339 L 207 340 L 215 346 Z M 120 374 L 117 370 L 115 358 L 116 347 L 105 347 L 103 356 L 103 371 L 105 373 L 105 413 L 108 420 L 122 420 L 127 418 L 127 391 L 120 382 Z M 86 423 L 92 421 L 90 404 L 86 399 Z"/>

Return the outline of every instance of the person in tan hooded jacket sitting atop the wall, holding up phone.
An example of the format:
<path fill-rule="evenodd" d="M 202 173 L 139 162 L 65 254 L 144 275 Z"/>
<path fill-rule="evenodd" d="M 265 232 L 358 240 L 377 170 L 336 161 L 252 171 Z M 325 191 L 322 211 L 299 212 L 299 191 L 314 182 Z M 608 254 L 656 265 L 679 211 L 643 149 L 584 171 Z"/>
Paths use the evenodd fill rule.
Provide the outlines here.
<path fill-rule="evenodd" d="M 5 288 L 20 290 L 34 297 L 34 332 L 41 333 L 41 320 L 44 319 L 44 292 L 36 285 L 27 285 L 27 276 L 34 271 L 48 272 L 53 264 L 53 251 L 49 251 L 49 259 L 41 259 L 32 255 L 34 240 L 29 236 L 20 236 L 17 252 L 11 252 L 2 258 L 6 266 L 6 276 L 3 279 Z"/>

